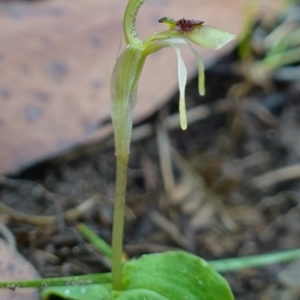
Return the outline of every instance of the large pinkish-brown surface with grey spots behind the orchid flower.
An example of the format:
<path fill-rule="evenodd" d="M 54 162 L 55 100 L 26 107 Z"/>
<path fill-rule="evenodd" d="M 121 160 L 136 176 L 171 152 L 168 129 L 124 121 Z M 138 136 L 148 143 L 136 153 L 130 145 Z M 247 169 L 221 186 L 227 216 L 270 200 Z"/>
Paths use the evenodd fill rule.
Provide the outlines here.
<path fill-rule="evenodd" d="M 112 133 L 109 84 L 122 40 L 126 2 L 0 2 L 0 173 L 19 172 Z M 201 19 L 238 34 L 244 3 L 148 1 L 138 17 L 140 36 L 164 30 L 165 25 L 157 22 L 164 16 Z M 204 59 L 220 55 L 199 52 Z M 187 54 L 185 58 L 192 74 L 194 57 Z M 176 72 L 172 49 L 149 57 L 139 85 L 135 121 L 153 113 L 176 91 Z"/>

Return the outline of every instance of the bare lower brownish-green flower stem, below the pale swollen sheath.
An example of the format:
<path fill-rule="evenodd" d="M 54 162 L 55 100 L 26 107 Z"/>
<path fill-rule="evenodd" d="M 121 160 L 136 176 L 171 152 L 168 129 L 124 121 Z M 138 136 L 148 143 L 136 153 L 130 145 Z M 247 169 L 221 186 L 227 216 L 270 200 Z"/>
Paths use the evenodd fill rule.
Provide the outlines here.
<path fill-rule="evenodd" d="M 121 289 L 122 244 L 124 231 L 127 166 L 128 155 L 127 157 L 117 155 L 115 209 L 112 237 L 112 274 L 114 290 Z"/>

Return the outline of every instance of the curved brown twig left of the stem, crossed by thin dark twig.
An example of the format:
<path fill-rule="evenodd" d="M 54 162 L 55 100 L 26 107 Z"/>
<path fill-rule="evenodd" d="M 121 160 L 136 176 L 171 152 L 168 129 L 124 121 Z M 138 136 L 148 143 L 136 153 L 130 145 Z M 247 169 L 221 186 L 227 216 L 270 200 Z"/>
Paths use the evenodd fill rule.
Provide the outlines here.
<path fill-rule="evenodd" d="M 82 202 L 77 207 L 66 211 L 62 215 L 66 220 L 78 219 L 84 213 L 90 211 L 94 207 L 94 205 L 99 201 L 99 199 L 100 199 L 99 195 L 94 195 L 91 198 Z M 0 202 L 0 211 L 4 214 L 7 214 L 9 218 L 15 222 L 31 224 L 34 226 L 53 224 L 57 221 L 57 216 L 30 216 L 30 215 L 16 212 L 14 209 L 1 202 Z"/>

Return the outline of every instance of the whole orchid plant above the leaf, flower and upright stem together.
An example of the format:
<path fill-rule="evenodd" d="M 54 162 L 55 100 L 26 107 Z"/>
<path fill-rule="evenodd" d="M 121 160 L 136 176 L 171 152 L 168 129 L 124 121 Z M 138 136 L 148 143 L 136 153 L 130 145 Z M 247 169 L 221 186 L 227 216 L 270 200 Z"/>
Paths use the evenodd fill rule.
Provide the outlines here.
<path fill-rule="evenodd" d="M 132 131 L 132 113 L 137 99 L 137 85 L 145 60 L 148 55 L 162 48 L 172 47 L 175 50 L 178 60 L 180 124 L 182 129 L 186 129 L 185 86 L 187 70 L 178 45 L 187 45 L 195 55 L 199 69 L 199 93 L 200 95 L 204 95 L 204 64 L 191 43 L 206 48 L 219 49 L 230 40 L 236 38 L 235 35 L 228 32 L 204 25 L 202 21 L 185 19 L 175 21 L 170 18 L 161 18 L 158 21 L 168 25 L 169 29 L 155 33 L 145 41 L 142 41 L 137 35 L 135 20 L 139 8 L 144 2 L 145 0 L 129 0 L 127 4 L 123 19 L 124 36 L 127 46 L 117 58 L 111 80 L 111 114 L 117 157 L 112 241 L 113 285 L 116 289 L 120 286 L 121 280 L 123 220 L 127 183 L 126 172 Z"/>

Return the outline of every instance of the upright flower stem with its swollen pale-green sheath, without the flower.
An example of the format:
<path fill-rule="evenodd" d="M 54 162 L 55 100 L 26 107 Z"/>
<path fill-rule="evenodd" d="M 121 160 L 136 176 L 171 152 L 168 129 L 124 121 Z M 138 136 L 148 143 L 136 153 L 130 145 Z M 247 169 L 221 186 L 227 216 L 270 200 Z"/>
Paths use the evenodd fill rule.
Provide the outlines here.
<path fill-rule="evenodd" d="M 115 210 L 112 236 L 113 288 L 121 289 L 122 242 L 124 231 L 127 166 L 132 132 L 132 112 L 136 103 L 137 81 L 145 57 L 143 48 L 128 45 L 118 57 L 111 80 L 111 115 L 117 159 Z"/>

